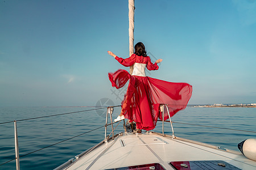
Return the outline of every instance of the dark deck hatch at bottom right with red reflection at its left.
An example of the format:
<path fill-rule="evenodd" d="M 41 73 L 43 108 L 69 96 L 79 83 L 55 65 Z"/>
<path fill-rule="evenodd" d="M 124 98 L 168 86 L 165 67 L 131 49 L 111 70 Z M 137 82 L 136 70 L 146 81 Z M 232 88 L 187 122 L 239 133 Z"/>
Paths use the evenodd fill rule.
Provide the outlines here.
<path fill-rule="evenodd" d="M 180 161 L 170 162 L 170 165 L 177 170 L 180 169 L 232 169 L 238 170 L 240 168 L 235 167 L 232 164 L 224 162 L 222 160 L 201 160 L 201 161 Z"/>

